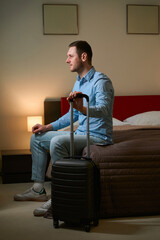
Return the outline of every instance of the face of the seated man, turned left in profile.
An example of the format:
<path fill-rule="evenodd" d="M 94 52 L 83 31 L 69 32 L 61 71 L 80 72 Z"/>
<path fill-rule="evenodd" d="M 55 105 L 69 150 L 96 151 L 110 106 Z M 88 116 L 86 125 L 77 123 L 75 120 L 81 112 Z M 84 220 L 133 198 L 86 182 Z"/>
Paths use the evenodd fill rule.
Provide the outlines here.
<path fill-rule="evenodd" d="M 83 68 L 83 62 L 77 54 L 76 47 L 70 47 L 67 53 L 66 63 L 69 64 L 71 72 L 80 72 Z"/>

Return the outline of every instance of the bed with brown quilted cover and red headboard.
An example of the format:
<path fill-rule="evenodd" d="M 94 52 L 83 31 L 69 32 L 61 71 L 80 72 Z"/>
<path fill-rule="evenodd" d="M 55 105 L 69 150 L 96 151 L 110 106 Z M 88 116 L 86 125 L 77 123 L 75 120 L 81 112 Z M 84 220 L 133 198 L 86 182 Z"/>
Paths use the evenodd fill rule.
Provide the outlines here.
<path fill-rule="evenodd" d="M 68 108 L 61 98 L 61 115 Z M 90 148 L 100 168 L 100 217 L 160 214 L 160 95 L 116 96 L 113 139 Z"/>

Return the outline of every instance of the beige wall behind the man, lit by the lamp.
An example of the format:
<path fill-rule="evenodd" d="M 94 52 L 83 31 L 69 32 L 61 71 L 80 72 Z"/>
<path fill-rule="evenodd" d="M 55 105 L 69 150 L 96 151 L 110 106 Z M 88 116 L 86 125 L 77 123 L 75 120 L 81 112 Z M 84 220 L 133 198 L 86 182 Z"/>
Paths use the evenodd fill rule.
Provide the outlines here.
<path fill-rule="evenodd" d="M 79 35 L 43 35 L 43 3 L 76 3 Z M 68 44 L 87 40 L 93 65 L 116 95 L 160 93 L 160 35 L 127 35 L 126 4 L 159 0 L 0 0 L 0 149 L 29 148 L 26 116 L 43 115 L 47 97 L 67 96 L 76 74 Z"/>

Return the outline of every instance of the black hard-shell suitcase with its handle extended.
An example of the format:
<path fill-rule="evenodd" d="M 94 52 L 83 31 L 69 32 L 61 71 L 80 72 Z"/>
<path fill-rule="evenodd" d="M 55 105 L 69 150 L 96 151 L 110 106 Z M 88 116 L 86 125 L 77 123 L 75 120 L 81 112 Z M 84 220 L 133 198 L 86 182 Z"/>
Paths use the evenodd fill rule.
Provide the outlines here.
<path fill-rule="evenodd" d="M 89 232 L 91 224 L 98 225 L 100 209 L 99 169 L 89 157 L 89 98 L 87 99 L 87 158 L 75 157 L 73 149 L 73 103 L 71 102 L 71 142 L 68 158 L 56 161 L 52 166 L 51 199 L 53 225 L 59 221 L 80 224 Z"/>

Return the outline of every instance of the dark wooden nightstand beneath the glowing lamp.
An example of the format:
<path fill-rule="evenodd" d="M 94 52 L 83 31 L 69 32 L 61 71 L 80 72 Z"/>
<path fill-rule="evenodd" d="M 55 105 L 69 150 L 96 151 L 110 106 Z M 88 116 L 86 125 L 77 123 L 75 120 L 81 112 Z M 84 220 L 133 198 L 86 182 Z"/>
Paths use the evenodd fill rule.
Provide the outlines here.
<path fill-rule="evenodd" d="M 29 150 L 4 150 L 2 154 L 2 183 L 31 181 L 32 158 Z"/>

